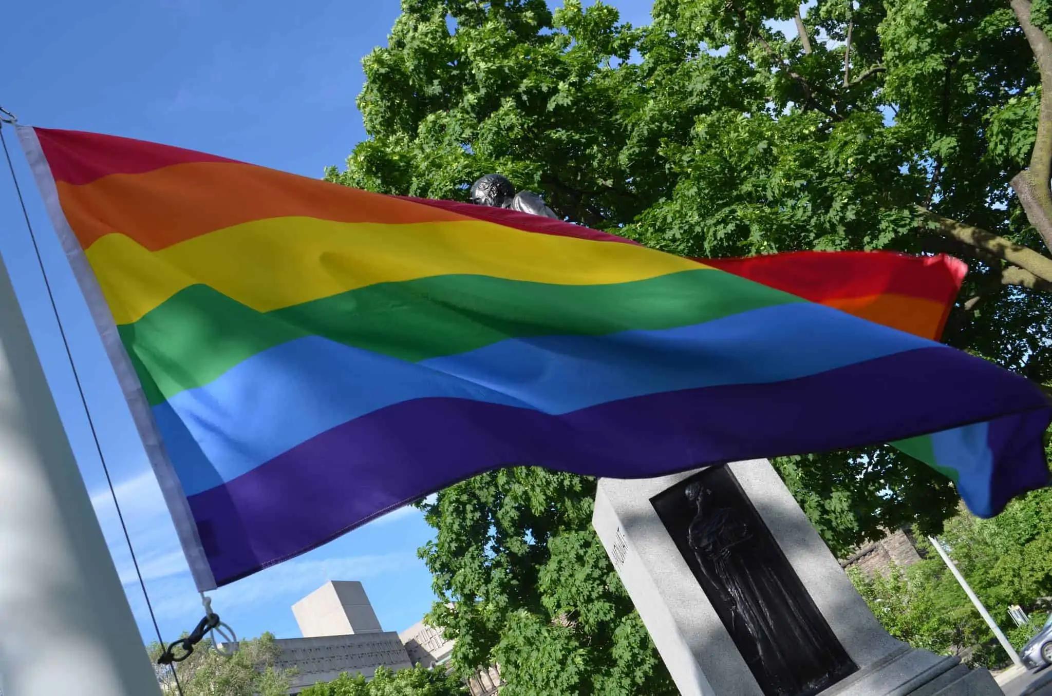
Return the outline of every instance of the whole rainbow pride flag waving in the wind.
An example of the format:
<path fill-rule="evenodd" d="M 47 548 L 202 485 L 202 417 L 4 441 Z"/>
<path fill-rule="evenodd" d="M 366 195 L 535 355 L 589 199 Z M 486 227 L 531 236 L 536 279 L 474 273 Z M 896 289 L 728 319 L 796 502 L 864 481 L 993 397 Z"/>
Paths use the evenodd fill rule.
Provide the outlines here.
<path fill-rule="evenodd" d="M 202 590 L 506 465 L 647 477 L 899 441 L 979 515 L 1048 482 L 1043 392 L 932 341 L 964 273 L 945 257 L 683 259 L 19 136 Z"/>

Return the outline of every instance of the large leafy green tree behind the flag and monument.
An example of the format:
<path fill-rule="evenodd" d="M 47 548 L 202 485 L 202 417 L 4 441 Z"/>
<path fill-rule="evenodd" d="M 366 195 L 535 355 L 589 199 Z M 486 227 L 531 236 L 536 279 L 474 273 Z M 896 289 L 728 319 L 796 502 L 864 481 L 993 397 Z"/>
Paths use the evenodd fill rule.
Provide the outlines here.
<path fill-rule="evenodd" d="M 692 255 L 951 251 L 972 272 L 947 341 L 1052 378 L 1047 0 L 817 0 L 803 17 L 658 0 L 646 27 L 579 0 L 402 9 L 364 60 L 368 139 L 328 179 L 464 200 L 500 171 L 564 218 Z M 936 532 L 957 505 L 889 448 L 776 466 L 836 552 Z M 671 693 L 590 530 L 593 492 L 512 469 L 425 506 L 431 618 L 459 669 L 499 660 L 509 694 Z"/>

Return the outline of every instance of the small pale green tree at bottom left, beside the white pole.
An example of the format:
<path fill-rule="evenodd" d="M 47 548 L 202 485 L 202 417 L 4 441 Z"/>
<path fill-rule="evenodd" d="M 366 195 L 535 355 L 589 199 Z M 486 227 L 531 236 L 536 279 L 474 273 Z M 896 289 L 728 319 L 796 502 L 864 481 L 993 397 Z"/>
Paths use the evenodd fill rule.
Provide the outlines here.
<path fill-rule="evenodd" d="M 150 643 L 146 652 L 157 664 L 160 644 Z M 277 669 L 280 655 L 281 648 L 271 633 L 242 640 L 229 656 L 216 652 L 211 639 L 206 638 L 188 658 L 176 663 L 176 670 L 185 696 L 285 696 L 296 670 Z M 164 693 L 176 694 L 170 670 L 157 666 L 156 671 Z"/>

